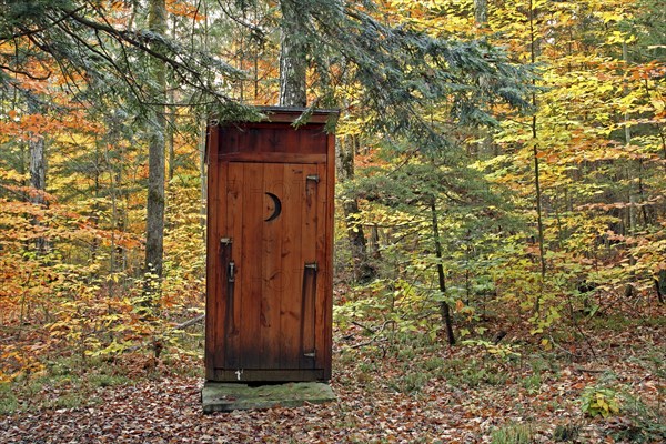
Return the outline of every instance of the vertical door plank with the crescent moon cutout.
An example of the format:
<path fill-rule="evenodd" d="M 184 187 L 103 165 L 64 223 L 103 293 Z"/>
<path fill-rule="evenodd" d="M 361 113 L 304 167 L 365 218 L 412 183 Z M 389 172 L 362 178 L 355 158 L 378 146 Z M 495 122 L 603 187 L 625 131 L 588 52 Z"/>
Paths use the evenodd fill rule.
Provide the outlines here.
<path fill-rule="evenodd" d="M 262 293 L 261 293 L 261 363 L 262 369 L 280 365 L 280 301 L 283 297 L 282 230 L 284 214 L 284 167 L 266 164 L 264 168 L 263 235 L 262 235 Z M 270 195 L 268 193 L 271 193 Z M 276 199 L 276 201 L 274 201 Z"/>

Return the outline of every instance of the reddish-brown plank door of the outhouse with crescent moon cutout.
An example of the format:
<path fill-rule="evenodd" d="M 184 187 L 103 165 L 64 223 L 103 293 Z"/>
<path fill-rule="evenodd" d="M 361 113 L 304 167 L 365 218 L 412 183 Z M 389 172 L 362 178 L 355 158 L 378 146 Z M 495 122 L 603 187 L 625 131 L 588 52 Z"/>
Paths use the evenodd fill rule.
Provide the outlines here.
<path fill-rule="evenodd" d="M 323 365 L 315 325 L 324 317 L 317 274 L 325 262 L 325 168 L 229 162 L 225 175 L 219 219 L 224 334 L 215 367 L 235 371 L 240 381 L 246 370 L 316 370 Z"/>

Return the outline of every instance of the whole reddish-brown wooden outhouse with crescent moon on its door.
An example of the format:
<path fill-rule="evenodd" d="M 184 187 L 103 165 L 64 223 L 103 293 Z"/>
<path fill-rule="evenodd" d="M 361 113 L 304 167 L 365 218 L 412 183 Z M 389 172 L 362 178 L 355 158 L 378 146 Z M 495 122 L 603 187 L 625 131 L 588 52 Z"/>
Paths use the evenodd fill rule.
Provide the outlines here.
<path fill-rule="evenodd" d="M 335 111 L 262 108 L 209 125 L 205 374 L 326 381 L 332 351 Z"/>

